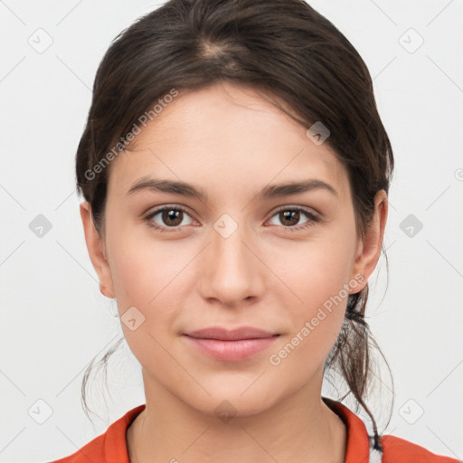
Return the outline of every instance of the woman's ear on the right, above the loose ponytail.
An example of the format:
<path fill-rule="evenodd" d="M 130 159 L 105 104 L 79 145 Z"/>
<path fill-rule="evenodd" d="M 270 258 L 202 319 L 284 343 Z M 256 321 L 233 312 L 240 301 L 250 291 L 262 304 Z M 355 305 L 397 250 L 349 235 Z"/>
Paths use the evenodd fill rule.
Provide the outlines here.
<path fill-rule="evenodd" d="M 384 229 L 387 221 L 388 199 L 384 190 L 374 196 L 374 215 L 372 222 L 365 231 L 364 240 L 359 242 L 355 257 L 353 276 L 363 275 L 362 289 L 367 279 L 373 273 L 383 249 Z M 355 292 L 358 292 L 358 288 Z"/>

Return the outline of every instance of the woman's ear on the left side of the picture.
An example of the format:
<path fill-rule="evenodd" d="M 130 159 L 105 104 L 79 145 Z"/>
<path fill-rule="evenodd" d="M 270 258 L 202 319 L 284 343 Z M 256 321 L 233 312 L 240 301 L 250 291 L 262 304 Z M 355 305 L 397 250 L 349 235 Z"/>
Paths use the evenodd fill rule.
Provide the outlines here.
<path fill-rule="evenodd" d="M 106 260 L 106 250 L 104 242 L 95 229 L 93 217 L 91 216 L 91 206 L 88 201 L 80 203 L 80 217 L 82 219 L 83 231 L 85 233 L 85 242 L 93 268 L 98 274 L 99 290 L 103 296 L 114 298 L 114 288 L 109 269 L 108 261 Z"/>

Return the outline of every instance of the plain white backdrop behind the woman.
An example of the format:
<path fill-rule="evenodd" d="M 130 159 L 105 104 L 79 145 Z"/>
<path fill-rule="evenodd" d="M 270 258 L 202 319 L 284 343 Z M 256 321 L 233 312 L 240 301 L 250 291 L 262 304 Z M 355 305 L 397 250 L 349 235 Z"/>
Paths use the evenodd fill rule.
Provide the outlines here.
<path fill-rule="evenodd" d="M 463 2 L 310 4 L 364 58 L 396 161 L 389 280 L 382 257 L 367 310 L 394 380 L 384 432 L 463 459 Z M 123 346 L 109 364 L 110 395 L 94 379 L 93 424 L 80 405 L 86 366 L 122 330 L 85 246 L 74 155 L 99 61 L 156 5 L 0 1 L 1 462 L 69 455 L 144 403 Z M 383 430 L 392 392 L 380 377 Z"/>

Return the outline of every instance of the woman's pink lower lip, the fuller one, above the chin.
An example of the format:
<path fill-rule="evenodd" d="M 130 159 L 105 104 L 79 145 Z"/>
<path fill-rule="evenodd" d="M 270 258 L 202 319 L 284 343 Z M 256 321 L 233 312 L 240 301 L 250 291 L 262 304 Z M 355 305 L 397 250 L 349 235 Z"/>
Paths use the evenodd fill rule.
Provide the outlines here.
<path fill-rule="evenodd" d="M 200 352 L 222 362 L 238 362 L 267 349 L 279 335 L 259 339 L 240 339 L 238 341 L 221 341 L 184 335 Z"/>

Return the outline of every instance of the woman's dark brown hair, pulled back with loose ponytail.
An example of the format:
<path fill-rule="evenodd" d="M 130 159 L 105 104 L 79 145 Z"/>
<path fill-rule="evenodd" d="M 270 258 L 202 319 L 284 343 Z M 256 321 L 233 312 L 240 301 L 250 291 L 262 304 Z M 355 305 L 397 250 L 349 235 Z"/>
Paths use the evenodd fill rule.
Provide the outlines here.
<path fill-rule="evenodd" d="M 142 116 L 156 117 L 150 109 L 173 89 L 194 91 L 221 81 L 270 96 L 305 128 L 321 122 L 329 130 L 325 143 L 345 165 L 356 229 L 364 238 L 375 194 L 389 189 L 392 146 L 361 56 L 303 0 L 170 0 L 118 34 L 99 63 L 76 154 L 77 191 L 91 205 L 96 231 L 104 236 L 114 147 L 116 154 L 124 151 L 130 132 L 146 119 Z M 370 350 L 381 353 L 364 319 L 367 298 L 368 285 L 349 298 L 326 368 L 342 374 L 348 393 L 373 421 L 374 447 L 382 449 L 365 403 Z M 88 373 L 82 382 L 86 410 Z"/>

